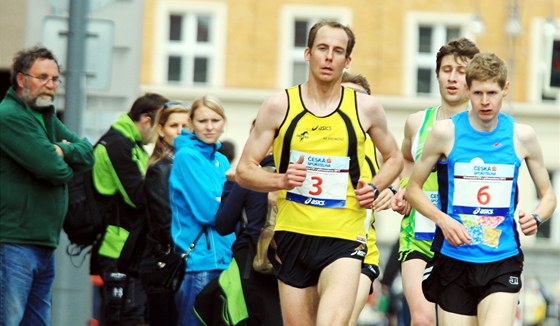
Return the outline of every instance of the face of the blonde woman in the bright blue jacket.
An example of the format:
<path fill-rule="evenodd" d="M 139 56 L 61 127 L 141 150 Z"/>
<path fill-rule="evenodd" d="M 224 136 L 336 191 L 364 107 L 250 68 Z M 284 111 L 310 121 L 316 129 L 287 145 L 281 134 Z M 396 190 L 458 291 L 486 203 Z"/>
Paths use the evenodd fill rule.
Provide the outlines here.
<path fill-rule="evenodd" d="M 212 109 L 202 106 L 195 110 L 191 127 L 193 133 L 206 144 L 214 144 L 224 131 L 226 121 Z"/>

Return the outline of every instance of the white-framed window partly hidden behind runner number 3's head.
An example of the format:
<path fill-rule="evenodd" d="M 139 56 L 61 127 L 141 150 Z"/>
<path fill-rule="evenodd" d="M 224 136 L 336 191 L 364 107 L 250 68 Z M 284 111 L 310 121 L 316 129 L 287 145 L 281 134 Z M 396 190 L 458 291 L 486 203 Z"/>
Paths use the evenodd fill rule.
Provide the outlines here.
<path fill-rule="evenodd" d="M 282 49 L 286 49 L 288 56 L 280 57 L 280 87 L 297 85 L 307 80 L 308 65 L 304 60 L 304 50 L 307 47 L 309 30 L 321 19 L 336 20 L 342 24 L 350 24 L 352 12 L 348 8 L 324 6 L 286 6 L 282 11 L 283 34 L 281 35 Z M 284 28 L 288 26 L 288 28 Z"/>

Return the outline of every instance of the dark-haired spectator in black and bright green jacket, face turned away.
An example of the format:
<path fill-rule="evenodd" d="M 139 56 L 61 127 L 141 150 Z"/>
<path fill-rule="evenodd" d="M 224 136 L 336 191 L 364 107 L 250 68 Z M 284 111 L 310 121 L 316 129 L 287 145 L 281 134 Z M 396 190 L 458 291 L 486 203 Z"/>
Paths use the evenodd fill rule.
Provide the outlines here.
<path fill-rule="evenodd" d="M 109 206 L 104 216 L 107 227 L 92 249 L 90 265 L 91 273 L 101 275 L 104 283 L 100 288 L 103 325 L 146 322 L 147 297 L 138 275 L 131 270 L 123 274 L 117 260 L 129 232 L 146 219 L 144 174 L 148 153 L 143 145 L 152 140 L 155 115 L 167 101 L 153 93 L 139 97 L 94 149 L 93 183 L 100 201 Z"/>

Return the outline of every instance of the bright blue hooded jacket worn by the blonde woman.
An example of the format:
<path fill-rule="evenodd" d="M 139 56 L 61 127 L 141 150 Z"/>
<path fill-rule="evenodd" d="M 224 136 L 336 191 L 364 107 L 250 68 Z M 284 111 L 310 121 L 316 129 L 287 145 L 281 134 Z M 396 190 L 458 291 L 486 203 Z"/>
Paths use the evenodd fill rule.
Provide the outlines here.
<path fill-rule="evenodd" d="M 235 235 L 219 235 L 215 221 L 229 162 L 217 152 L 219 144 L 206 144 L 184 130 L 174 146 L 169 201 L 175 251 L 186 252 L 205 226 L 206 232 L 188 257 L 186 271 L 224 270 L 231 261 Z"/>

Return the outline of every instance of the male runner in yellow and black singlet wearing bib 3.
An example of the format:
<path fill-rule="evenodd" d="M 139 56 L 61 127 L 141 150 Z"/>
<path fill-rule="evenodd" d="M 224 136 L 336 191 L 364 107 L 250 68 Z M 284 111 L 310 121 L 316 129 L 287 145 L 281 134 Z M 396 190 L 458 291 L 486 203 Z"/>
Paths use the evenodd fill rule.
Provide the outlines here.
<path fill-rule="evenodd" d="M 263 103 L 237 166 L 241 186 L 279 191 L 269 257 L 286 325 L 348 324 L 366 254 L 365 207 L 402 169 L 382 106 L 341 87 L 354 43 L 337 22 L 311 28 L 309 80 Z M 385 162 L 372 180 L 360 180 L 366 133 Z M 275 174 L 259 168 L 270 145 Z"/>

